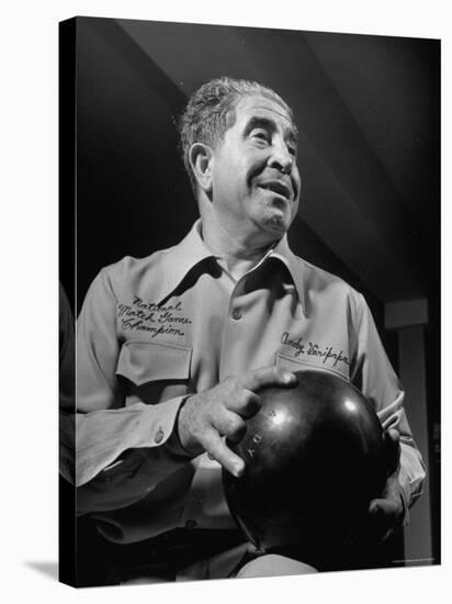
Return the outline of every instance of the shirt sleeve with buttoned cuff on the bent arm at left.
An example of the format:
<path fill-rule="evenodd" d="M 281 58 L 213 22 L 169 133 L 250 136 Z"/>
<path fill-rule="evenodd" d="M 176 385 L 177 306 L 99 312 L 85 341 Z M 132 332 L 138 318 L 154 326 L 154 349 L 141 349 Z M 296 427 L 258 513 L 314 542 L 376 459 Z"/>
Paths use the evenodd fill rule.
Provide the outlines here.
<path fill-rule="evenodd" d="M 116 297 L 103 269 L 77 322 L 76 469 L 79 513 L 116 510 L 144 497 L 188 462 L 176 421 L 185 396 L 125 406 L 115 371 L 121 350 Z"/>

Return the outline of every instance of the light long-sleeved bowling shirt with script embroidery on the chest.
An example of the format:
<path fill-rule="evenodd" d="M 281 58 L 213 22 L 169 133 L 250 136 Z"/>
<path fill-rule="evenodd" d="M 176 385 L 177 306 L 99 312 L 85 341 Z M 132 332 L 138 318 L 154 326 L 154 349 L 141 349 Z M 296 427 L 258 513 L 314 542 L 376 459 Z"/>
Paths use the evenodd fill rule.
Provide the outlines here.
<path fill-rule="evenodd" d="M 234 527 L 221 466 L 183 450 L 177 415 L 188 395 L 272 365 L 350 380 L 397 427 L 408 510 L 422 461 L 363 297 L 295 256 L 286 236 L 236 281 L 197 221 L 179 245 L 102 269 L 88 291 L 77 324 L 79 514 L 118 543 Z"/>

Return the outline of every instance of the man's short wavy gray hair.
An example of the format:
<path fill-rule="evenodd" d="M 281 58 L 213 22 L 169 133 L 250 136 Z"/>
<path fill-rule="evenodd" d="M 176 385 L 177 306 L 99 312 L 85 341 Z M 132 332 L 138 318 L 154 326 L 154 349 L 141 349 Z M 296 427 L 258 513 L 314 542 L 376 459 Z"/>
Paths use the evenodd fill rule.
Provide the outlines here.
<path fill-rule="evenodd" d="M 194 192 L 196 179 L 189 159 L 191 146 L 194 143 L 215 146 L 222 141 L 225 132 L 235 124 L 238 102 L 252 94 L 267 97 L 282 105 L 293 122 L 293 112 L 287 103 L 274 90 L 256 81 L 216 78 L 204 83 L 191 96 L 180 119 L 179 132 L 183 164 Z"/>

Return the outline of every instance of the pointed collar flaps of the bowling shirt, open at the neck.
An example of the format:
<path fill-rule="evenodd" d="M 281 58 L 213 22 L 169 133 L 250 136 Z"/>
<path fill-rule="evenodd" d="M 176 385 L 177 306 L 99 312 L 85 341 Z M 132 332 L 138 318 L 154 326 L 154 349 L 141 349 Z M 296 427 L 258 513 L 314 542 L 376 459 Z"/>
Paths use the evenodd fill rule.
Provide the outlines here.
<path fill-rule="evenodd" d="M 162 254 L 166 255 L 166 272 L 163 283 L 157 297 L 157 303 L 160 303 L 172 293 L 187 273 L 196 265 L 205 261 L 207 258 L 216 258 L 215 254 L 208 249 L 202 239 L 201 219 L 193 224 L 189 234 L 179 245 L 162 251 Z M 275 258 L 287 268 L 304 311 L 306 306 L 303 286 L 303 265 L 301 259 L 289 247 L 287 235 L 284 235 L 270 248 L 259 264 L 264 262 L 268 258 Z"/>

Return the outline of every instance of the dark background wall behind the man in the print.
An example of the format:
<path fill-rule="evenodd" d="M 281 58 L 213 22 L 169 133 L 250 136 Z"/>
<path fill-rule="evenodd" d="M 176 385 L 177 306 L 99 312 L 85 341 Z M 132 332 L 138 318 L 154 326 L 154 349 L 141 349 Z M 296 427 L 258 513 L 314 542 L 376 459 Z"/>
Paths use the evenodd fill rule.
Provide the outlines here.
<path fill-rule="evenodd" d="M 385 304 L 428 301 L 438 560 L 439 42 L 91 18 L 78 18 L 74 35 L 76 69 L 63 70 L 60 80 L 74 74 L 66 83 L 76 94 L 61 130 L 66 142 L 75 135 L 66 159 L 74 155 L 76 170 L 61 163 L 60 279 L 75 312 L 100 268 L 178 243 L 196 219 L 176 127 L 188 97 L 223 75 L 274 88 L 293 108 L 301 133 L 294 251 L 365 295 L 396 369 Z"/>

